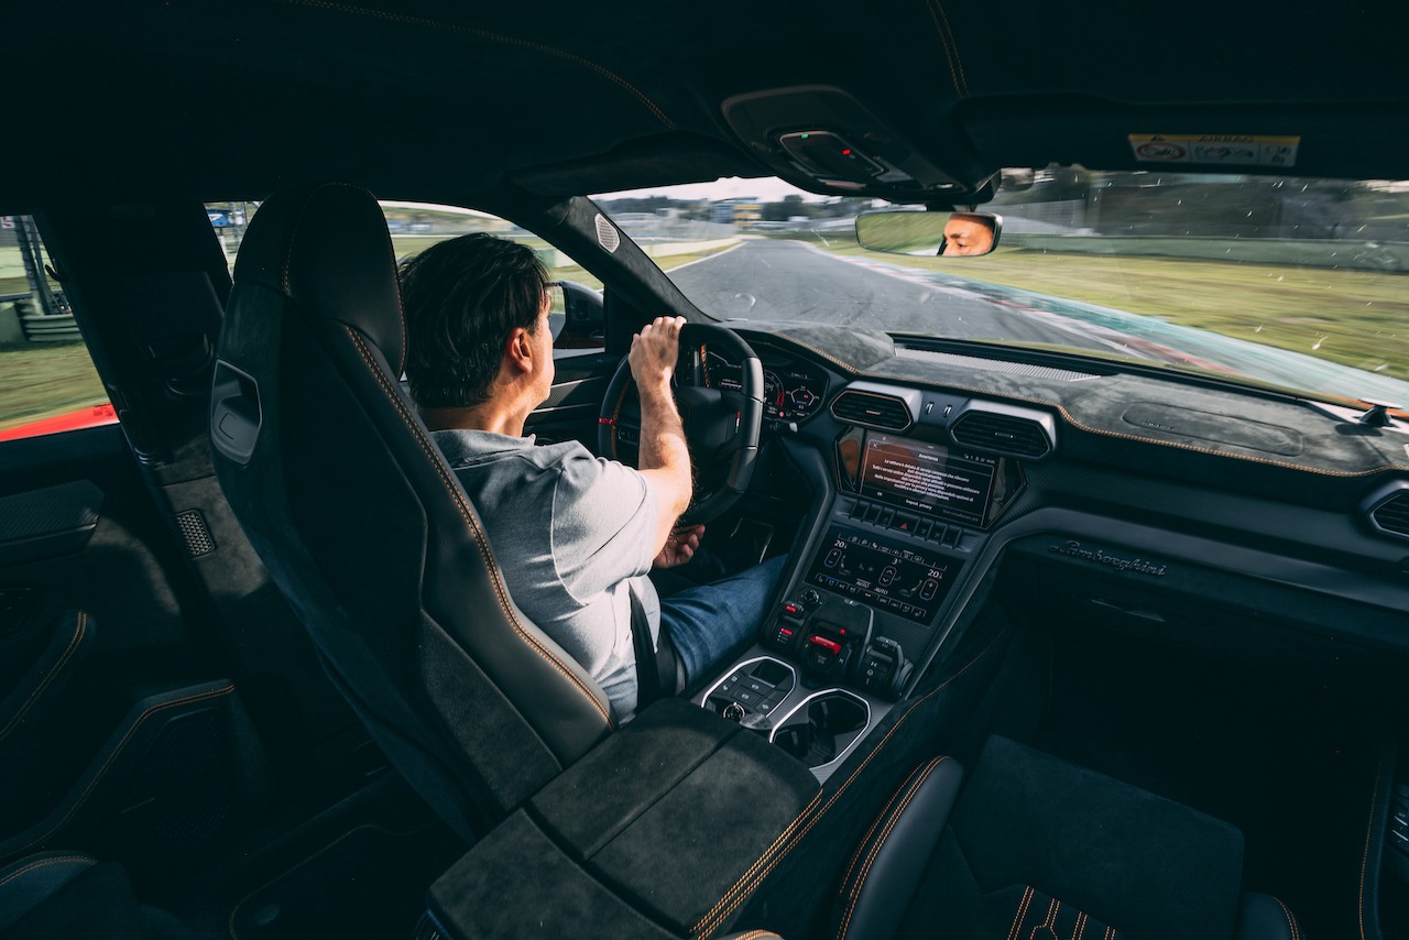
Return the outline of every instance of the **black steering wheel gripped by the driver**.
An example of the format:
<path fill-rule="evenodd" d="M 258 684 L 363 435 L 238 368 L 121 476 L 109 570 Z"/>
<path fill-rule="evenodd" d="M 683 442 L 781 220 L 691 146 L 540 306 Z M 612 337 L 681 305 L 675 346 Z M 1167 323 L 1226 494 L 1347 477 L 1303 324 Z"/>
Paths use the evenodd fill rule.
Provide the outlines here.
<path fill-rule="evenodd" d="M 703 385 L 706 344 L 741 364 L 740 389 Z M 681 327 L 681 364 L 672 385 L 695 476 L 695 496 L 681 524 L 693 526 L 717 519 L 748 489 L 764 423 L 764 364 L 737 333 L 707 323 Z M 597 419 L 597 452 L 624 462 L 634 462 L 641 441 L 641 407 L 631 393 L 634 388 L 631 362 L 621 359 Z"/>

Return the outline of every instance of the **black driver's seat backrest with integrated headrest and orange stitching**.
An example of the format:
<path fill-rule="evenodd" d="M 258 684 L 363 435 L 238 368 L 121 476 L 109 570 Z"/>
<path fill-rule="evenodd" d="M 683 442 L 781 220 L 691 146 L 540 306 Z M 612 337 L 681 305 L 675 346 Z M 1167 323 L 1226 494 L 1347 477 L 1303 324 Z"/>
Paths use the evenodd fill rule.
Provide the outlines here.
<path fill-rule="evenodd" d="M 493 822 L 613 727 L 514 606 L 476 509 L 402 390 L 406 324 L 364 189 L 265 202 L 211 395 L 220 485 L 392 762 L 454 827 Z"/>

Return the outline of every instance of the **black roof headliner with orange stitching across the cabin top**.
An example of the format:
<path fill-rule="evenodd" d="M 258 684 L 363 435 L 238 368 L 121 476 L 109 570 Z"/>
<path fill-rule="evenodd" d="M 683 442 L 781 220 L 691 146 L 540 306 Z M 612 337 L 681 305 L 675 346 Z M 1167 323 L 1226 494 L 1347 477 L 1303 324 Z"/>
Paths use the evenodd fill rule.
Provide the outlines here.
<path fill-rule="evenodd" d="M 1409 176 L 1403 4 L 27 6 L 4 30 L 11 209 L 314 178 L 469 202 L 762 176 L 720 106 L 796 85 L 845 89 L 967 178 L 1133 168 L 1131 132 L 1292 134 L 1296 172 Z"/>

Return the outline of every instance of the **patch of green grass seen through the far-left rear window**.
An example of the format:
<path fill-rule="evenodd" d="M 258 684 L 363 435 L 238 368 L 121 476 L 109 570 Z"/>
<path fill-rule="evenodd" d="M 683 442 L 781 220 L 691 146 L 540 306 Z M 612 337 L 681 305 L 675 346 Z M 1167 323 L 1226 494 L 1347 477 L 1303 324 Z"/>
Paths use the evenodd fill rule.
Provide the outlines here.
<path fill-rule="evenodd" d="M 104 402 L 82 342 L 0 345 L 0 430 Z"/>

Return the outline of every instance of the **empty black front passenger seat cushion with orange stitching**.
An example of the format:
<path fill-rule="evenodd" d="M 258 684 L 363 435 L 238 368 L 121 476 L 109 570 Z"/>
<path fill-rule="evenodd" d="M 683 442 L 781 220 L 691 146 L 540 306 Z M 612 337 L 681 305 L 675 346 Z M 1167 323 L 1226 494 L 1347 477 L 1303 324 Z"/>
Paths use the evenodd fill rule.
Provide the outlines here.
<path fill-rule="evenodd" d="M 837 937 L 1301 940 L 1285 905 L 1243 892 L 1227 823 L 999 737 L 962 778 L 941 757 L 895 793 Z"/>

